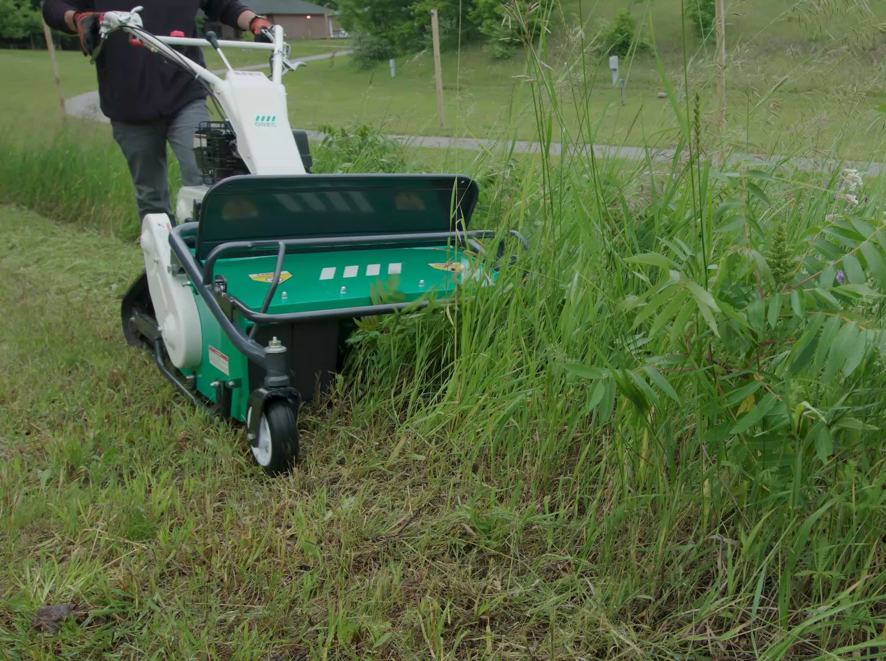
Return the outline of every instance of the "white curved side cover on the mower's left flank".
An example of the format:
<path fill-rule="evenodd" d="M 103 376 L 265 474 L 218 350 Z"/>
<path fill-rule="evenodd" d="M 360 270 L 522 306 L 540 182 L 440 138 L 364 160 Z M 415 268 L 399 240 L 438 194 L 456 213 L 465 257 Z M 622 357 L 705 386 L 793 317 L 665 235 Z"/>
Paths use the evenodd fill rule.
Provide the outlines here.
<path fill-rule="evenodd" d="M 146 214 L 139 241 L 157 325 L 169 359 L 179 369 L 195 368 L 203 356 L 200 316 L 188 276 L 172 275 L 167 214 Z"/>

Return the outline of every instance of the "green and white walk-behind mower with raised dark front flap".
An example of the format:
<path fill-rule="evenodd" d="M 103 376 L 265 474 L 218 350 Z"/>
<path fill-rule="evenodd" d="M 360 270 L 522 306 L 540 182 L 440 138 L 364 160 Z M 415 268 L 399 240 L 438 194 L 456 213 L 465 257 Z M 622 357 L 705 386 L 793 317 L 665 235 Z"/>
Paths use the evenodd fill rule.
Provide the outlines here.
<path fill-rule="evenodd" d="M 478 196 L 467 176 L 307 174 L 280 82 L 300 63 L 282 27 L 269 43 L 159 36 L 140 11 L 106 12 L 101 36 L 125 31 L 184 67 L 226 119 L 195 136 L 207 185 L 180 191 L 176 218 L 144 216 L 145 270 L 124 296 L 123 331 L 194 404 L 245 422 L 268 474 L 285 472 L 299 454 L 299 404 L 340 369 L 354 318 L 492 284 L 476 239 L 494 232 L 467 229 Z M 224 80 L 175 50 L 184 45 L 218 51 Z M 271 77 L 234 70 L 222 47 L 270 51 Z"/>

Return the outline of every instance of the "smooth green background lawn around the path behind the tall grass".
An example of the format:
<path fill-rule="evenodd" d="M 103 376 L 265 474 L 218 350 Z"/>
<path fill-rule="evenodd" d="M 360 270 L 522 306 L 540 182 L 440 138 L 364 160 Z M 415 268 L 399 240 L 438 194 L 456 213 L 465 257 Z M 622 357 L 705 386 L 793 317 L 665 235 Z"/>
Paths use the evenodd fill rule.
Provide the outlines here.
<path fill-rule="evenodd" d="M 859 9 L 831 8 L 831 15 L 814 15 L 808 3 L 787 12 L 792 4 L 779 0 L 761 4 L 751 0 L 729 12 L 730 67 L 727 83 L 726 144 L 742 152 L 833 153 L 849 159 L 886 159 L 871 131 L 882 129 L 878 108 L 886 103 L 878 53 L 883 37 L 877 26 L 886 16 L 880 5 L 867 15 Z M 602 20 L 620 6 L 615 0 L 583 4 L 586 43 L 593 42 Z M 633 12 L 649 27 L 647 4 L 633 4 Z M 578 3 L 566 4 L 555 25 L 575 19 Z M 668 81 L 686 105 L 677 0 L 648 4 Z M 883 15 L 883 16 L 881 16 Z M 854 19 L 854 23 L 851 21 Z M 647 33 L 649 32 L 646 29 Z M 292 43 L 293 57 L 336 51 L 346 44 L 325 41 Z M 710 49 L 705 51 L 688 35 L 690 104 L 699 95 L 701 121 L 707 133 L 715 130 Z M 581 69 L 579 43 L 555 31 L 547 60 L 553 66 L 559 117 L 552 127 L 554 139 L 570 141 L 579 123 L 590 122 L 600 144 L 671 144 L 676 123 L 671 105 L 660 95 L 664 82 L 651 55 L 640 55 L 622 66 L 626 78 L 626 105 L 610 85 L 608 66 L 596 56 L 587 57 Z M 229 53 L 236 66 L 263 62 L 251 51 Z M 210 66 L 220 67 L 214 53 Z M 91 67 L 78 53 L 59 54 L 66 96 L 91 87 Z M 45 53 L 0 52 L 0 79 L 10 89 L 7 116 L 47 118 L 54 115 L 55 92 Z M 542 68 L 541 71 L 546 71 Z M 538 133 L 532 95 L 525 76 L 537 76 L 538 67 L 525 58 L 490 60 L 477 46 L 443 58 L 446 126 L 437 118 L 433 67 L 430 54 L 397 60 L 391 78 L 387 63 L 358 71 L 346 57 L 315 61 L 284 78 L 289 91 L 291 123 L 302 128 L 353 122 L 382 126 L 392 133 L 446 136 L 517 136 L 530 139 Z M 584 96 L 583 96 L 584 95 Z M 27 107 L 26 113 L 14 110 Z M 24 115 L 24 118 L 22 117 Z M 2 114 L 0 114 L 2 117 Z M 558 121 L 558 119 L 560 121 Z M 563 135 L 560 129 L 563 129 Z M 586 130 L 581 131 L 587 135 Z"/>

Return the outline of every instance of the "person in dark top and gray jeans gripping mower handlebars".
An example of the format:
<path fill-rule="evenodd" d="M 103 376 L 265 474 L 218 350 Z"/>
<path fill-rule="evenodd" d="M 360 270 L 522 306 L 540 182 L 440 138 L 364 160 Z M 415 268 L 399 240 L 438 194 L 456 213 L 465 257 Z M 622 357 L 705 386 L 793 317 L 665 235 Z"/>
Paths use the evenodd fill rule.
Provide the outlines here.
<path fill-rule="evenodd" d="M 270 22 L 240 0 L 144 0 L 144 27 L 155 35 L 197 37 L 197 12 L 210 20 L 249 30 L 256 41 Z M 172 215 L 167 180 L 167 143 L 178 159 L 185 186 L 203 183 L 193 152 L 194 131 L 209 120 L 208 92 L 189 71 L 135 48 L 127 35 L 99 38 L 104 12 L 127 11 L 120 0 L 45 0 L 43 19 L 50 27 L 80 36 L 84 55 L 96 63 L 102 113 L 111 120 L 114 139 L 126 158 L 136 188 L 139 220 L 145 214 Z M 202 51 L 186 46 L 183 55 L 203 64 Z"/>

